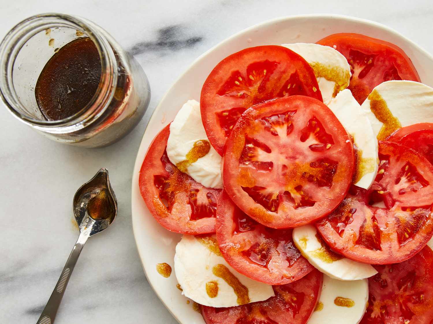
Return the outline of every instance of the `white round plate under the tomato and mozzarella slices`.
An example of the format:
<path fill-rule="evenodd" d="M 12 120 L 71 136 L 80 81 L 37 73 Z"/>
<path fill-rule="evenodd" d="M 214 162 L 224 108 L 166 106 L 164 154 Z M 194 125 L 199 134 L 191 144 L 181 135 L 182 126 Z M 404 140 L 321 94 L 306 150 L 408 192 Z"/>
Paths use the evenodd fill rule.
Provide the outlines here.
<path fill-rule="evenodd" d="M 132 226 L 147 279 L 179 323 L 203 324 L 204 320 L 193 310 L 193 302 L 187 305 L 187 299 L 176 289 L 174 271 L 169 278 L 164 278 L 156 271 L 156 264 L 162 262 L 170 264 L 173 268 L 174 248 L 181 235 L 171 233 L 160 226 L 141 198 L 138 177 L 149 144 L 155 135 L 173 120 L 188 99 L 200 100 L 200 90 L 207 75 L 229 54 L 258 45 L 315 43 L 325 36 L 339 32 L 360 33 L 396 44 L 412 59 L 422 82 L 433 86 L 433 57 L 417 44 L 384 25 L 337 15 L 291 16 L 245 29 L 201 55 L 171 86 L 155 108 L 143 135 L 132 176 Z"/>

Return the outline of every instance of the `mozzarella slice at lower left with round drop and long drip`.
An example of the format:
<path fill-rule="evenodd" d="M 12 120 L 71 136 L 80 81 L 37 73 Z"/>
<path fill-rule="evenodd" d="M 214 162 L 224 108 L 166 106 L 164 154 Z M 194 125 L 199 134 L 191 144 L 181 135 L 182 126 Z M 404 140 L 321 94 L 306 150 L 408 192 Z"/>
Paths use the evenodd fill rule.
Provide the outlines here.
<path fill-rule="evenodd" d="M 174 272 L 182 294 L 205 306 L 231 307 L 275 296 L 271 285 L 249 279 L 227 264 L 215 235 L 184 235 L 176 245 Z"/>

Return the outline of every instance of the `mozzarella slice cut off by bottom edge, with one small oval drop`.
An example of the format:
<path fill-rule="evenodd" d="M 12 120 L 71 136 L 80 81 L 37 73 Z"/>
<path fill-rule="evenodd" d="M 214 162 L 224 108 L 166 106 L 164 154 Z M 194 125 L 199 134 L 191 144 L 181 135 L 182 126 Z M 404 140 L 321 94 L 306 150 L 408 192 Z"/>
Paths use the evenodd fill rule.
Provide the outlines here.
<path fill-rule="evenodd" d="M 357 324 L 367 302 L 367 279 L 341 281 L 323 275 L 319 303 L 307 324 Z"/>

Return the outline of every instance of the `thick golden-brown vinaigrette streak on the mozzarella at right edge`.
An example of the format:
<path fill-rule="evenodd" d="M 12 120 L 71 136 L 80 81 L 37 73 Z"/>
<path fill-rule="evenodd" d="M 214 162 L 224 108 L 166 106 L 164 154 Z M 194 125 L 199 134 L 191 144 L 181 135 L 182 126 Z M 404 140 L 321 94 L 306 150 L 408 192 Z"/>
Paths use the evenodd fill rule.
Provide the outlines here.
<path fill-rule="evenodd" d="M 368 95 L 368 100 L 370 100 L 370 110 L 375 114 L 378 121 L 383 123 L 377 139 L 385 140 L 394 133 L 394 131 L 401 128 L 401 123 L 398 118 L 391 113 L 385 100 L 377 90 L 373 90 L 372 93 Z"/>

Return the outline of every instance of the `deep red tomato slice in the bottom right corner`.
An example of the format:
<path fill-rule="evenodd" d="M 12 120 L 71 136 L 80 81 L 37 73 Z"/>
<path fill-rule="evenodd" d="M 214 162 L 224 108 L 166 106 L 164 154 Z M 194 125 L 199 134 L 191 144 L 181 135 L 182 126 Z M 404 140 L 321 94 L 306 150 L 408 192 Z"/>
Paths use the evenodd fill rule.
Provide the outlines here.
<path fill-rule="evenodd" d="M 428 246 L 409 260 L 375 269 L 361 324 L 432 323 L 433 252 Z"/>

